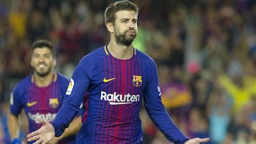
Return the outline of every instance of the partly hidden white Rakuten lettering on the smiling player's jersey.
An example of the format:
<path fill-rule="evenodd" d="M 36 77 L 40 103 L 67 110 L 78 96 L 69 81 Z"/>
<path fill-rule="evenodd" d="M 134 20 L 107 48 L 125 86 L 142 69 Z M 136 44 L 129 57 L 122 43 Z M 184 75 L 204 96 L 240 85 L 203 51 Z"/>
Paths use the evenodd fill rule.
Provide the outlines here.
<path fill-rule="evenodd" d="M 53 121 L 57 113 L 28 113 L 28 118 L 32 119 L 36 123 L 39 123 L 38 118 L 42 118 L 44 121 Z"/>

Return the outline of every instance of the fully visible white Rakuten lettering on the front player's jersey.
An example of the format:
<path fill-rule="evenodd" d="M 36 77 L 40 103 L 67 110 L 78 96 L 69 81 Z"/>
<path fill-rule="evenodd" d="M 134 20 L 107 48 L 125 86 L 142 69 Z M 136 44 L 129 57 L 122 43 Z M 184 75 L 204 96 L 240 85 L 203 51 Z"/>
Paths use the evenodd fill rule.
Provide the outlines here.
<path fill-rule="evenodd" d="M 100 100 L 109 101 L 110 105 L 118 104 L 132 104 L 139 101 L 139 94 L 107 94 L 107 92 L 100 92 Z"/>

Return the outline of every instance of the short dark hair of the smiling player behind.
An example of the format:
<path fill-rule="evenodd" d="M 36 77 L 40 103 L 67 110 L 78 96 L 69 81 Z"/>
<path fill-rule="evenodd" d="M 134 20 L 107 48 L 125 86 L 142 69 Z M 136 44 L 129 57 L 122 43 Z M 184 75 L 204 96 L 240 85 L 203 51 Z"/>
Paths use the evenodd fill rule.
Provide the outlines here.
<path fill-rule="evenodd" d="M 53 44 L 50 43 L 48 40 L 36 40 L 35 43 L 33 43 L 31 49 L 32 52 L 35 50 L 35 48 L 48 48 L 50 52 L 53 54 L 53 57 L 55 57 L 55 50 L 53 49 Z"/>

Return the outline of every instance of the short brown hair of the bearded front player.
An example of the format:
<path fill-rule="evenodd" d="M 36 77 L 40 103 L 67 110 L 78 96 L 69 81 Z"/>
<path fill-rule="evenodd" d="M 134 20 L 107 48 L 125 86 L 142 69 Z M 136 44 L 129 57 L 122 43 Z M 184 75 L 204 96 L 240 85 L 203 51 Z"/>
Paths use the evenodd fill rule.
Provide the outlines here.
<path fill-rule="evenodd" d="M 110 6 L 107 6 L 107 9 L 105 10 L 105 24 L 108 22 L 113 23 L 115 21 L 115 13 L 117 13 L 117 11 L 134 11 L 139 14 L 139 7 L 128 0 L 116 1 L 110 4 Z"/>

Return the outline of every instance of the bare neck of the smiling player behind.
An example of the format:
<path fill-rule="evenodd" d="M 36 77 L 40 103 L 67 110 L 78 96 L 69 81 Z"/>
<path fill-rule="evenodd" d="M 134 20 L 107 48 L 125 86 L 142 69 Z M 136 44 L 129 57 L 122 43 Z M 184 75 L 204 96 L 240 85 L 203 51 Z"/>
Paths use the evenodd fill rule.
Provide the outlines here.
<path fill-rule="evenodd" d="M 47 87 L 51 82 L 53 82 L 54 73 L 46 75 L 46 77 L 40 77 L 38 74 L 34 73 L 34 82 L 38 87 Z"/>

